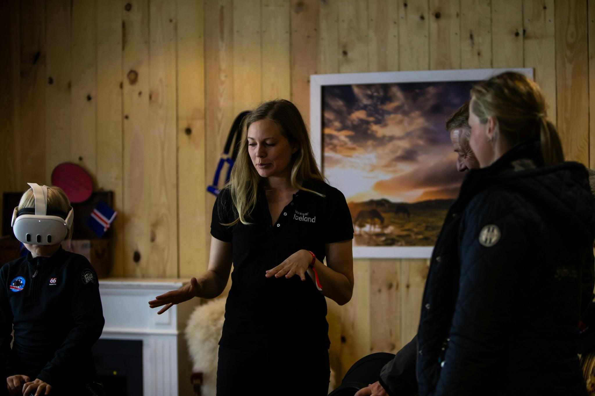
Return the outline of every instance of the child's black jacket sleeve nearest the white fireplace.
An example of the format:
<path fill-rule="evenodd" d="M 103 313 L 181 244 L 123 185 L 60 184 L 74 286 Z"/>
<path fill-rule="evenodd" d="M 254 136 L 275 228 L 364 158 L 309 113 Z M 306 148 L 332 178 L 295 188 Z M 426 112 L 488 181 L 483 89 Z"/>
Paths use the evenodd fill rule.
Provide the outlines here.
<path fill-rule="evenodd" d="M 89 261 L 80 256 L 80 261 L 70 262 L 68 271 L 73 286 L 70 310 L 74 327 L 54 358 L 39 373 L 37 378 L 48 384 L 60 384 L 68 380 L 72 368 L 84 359 L 104 328 L 104 314 L 99 297 L 99 283 Z"/>

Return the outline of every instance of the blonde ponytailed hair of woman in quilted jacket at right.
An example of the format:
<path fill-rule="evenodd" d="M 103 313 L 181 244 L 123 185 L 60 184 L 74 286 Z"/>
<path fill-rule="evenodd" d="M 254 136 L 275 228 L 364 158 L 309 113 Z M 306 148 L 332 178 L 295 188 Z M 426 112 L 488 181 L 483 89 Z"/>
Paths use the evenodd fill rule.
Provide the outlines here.
<path fill-rule="evenodd" d="M 547 119 L 546 101 L 539 86 L 525 75 L 504 72 L 471 89 L 471 110 L 486 123 L 496 118 L 500 134 L 516 145 L 531 139 L 541 142 L 546 165 L 564 161 L 556 127 Z"/>

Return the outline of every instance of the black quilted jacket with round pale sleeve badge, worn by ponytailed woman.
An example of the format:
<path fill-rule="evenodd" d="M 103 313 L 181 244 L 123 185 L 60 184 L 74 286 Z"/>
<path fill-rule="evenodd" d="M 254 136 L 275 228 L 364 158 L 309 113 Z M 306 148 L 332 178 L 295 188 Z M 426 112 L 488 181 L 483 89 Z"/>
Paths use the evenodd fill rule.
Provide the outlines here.
<path fill-rule="evenodd" d="M 471 170 L 434 249 L 418 330 L 425 395 L 584 395 L 581 309 L 594 286 L 585 167 L 538 142 Z"/>

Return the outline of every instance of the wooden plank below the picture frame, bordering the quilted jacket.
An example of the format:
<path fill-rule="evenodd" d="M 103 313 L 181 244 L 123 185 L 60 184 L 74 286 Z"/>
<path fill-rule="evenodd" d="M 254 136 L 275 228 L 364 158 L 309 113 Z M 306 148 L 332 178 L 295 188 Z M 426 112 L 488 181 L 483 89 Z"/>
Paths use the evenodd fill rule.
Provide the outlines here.
<path fill-rule="evenodd" d="M 401 260 L 400 302 L 401 333 L 400 345 L 403 346 L 417 334 L 421 299 L 424 294 L 425 278 L 428 276 L 430 261 L 419 259 Z"/>

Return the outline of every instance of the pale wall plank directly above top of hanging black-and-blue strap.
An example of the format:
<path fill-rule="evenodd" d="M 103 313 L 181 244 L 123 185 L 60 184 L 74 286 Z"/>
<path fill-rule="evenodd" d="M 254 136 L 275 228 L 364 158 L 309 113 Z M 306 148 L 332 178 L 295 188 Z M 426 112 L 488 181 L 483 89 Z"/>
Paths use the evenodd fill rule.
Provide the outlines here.
<path fill-rule="evenodd" d="M 261 91 L 260 0 L 233 2 L 233 113 L 256 107 Z M 227 121 L 227 129 L 233 119 Z"/>

